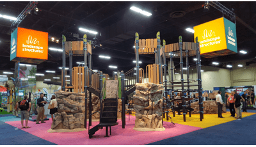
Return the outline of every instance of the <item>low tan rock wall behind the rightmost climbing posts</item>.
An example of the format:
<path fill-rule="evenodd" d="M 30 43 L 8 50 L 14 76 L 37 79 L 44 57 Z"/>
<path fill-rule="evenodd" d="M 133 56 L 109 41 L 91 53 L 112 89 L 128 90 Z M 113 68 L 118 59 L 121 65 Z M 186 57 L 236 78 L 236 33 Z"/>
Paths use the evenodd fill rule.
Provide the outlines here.
<path fill-rule="evenodd" d="M 203 107 L 204 107 L 204 114 L 218 114 L 218 105 L 215 100 L 206 100 L 203 101 Z M 191 103 L 191 108 L 194 109 L 194 111 L 191 111 L 191 114 L 198 114 L 199 113 L 199 102 L 193 102 Z M 222 106 L 222 112 L 227 112 L 226 105 Z"/>

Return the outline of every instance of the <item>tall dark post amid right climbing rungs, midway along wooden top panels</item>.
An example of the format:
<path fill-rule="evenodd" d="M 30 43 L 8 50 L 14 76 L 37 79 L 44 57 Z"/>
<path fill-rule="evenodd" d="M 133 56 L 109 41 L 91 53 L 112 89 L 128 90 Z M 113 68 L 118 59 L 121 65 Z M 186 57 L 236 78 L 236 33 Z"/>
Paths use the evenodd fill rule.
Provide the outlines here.
<path fill-rule="evenodd" d="M 186 121 L 186 104 L 184 96 L 184 79 L 183 79 L 183 54 L 182 54 L 182 36 L 179 36 L 179 50 L 180 50 L 180 76 L 181 76 L 181 98 L 182 98 L 182 111 L 183 111 L 183 121 Z"/>

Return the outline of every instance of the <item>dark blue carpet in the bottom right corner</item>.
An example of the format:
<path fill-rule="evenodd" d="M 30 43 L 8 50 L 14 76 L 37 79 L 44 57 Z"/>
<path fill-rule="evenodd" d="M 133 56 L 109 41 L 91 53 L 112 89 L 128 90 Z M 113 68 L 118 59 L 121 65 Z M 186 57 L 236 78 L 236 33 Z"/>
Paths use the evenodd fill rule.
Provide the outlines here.
<path fill-rule="evenodd" d="M 256 115 L 148 145 L 255 145 Z"/>

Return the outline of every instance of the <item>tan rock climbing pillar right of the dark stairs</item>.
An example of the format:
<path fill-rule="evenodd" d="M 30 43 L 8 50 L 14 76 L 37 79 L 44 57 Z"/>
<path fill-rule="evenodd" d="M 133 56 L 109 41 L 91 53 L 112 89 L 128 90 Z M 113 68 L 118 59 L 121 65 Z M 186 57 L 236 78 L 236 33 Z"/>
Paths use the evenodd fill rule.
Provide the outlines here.
<path fill-rule="evenodd" d="M 134 98 L 135 128 L 163 128 L 163 84 L 137 83 Z"/>

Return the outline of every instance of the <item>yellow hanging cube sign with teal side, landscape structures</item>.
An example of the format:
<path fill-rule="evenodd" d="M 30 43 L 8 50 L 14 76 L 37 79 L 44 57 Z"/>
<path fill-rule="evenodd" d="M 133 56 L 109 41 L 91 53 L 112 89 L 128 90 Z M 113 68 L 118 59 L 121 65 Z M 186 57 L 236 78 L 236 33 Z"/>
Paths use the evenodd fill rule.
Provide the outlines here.
<path fill-rule="evenodd" d="M 194 27 L 201 56 L 213 58 L 237 53 L 236 24 L 221 17 Z"/>

